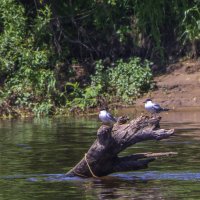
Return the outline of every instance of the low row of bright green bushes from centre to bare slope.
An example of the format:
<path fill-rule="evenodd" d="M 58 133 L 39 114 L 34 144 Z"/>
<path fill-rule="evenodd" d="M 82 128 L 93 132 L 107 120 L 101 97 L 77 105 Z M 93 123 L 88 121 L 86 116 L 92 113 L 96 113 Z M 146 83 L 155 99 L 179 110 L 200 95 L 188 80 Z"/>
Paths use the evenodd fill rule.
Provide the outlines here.
<path fill-rule="evenodd" d="M 73 85 L 73 92 L 68 97 L 69 107 L 79 107 L 82 110 L 97 105 L 97 98 L 106 96 L 118 97 L 125 102 L 132 102 L 133 98 L 140 96 L 151 87 L 152 73 L 150 62 L 141 61 L 135 57 L 129 62 L 119 60 L 116 67 L 105 69 L 102 61 L 98 61 L 95 73 L 91 76 L 91 85 L 80 89 Z M 77 96 L 77 94 L 79 94 Z"/>

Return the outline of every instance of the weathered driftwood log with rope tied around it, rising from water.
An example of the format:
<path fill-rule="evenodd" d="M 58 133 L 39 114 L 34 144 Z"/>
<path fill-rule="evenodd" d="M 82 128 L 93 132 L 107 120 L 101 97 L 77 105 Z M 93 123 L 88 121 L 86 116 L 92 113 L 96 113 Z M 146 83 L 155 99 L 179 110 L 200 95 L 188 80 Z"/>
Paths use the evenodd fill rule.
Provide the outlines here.
<path fill-rule="evenodd" d="M 161 117 L 140 116 L 126 124 L 120 118 L 114 126 L 102 125 L 97 131 L 97 139 L 83 159 L 67 176 L 101 177 L 114 172 L 132 171 L 148 167 L 157 157 L 173 155 L 167 153 L 139 153 L 125 157 L 118 154 L 127 147 L 144 140 L 168 138 L 174 130 L 160 129 Z"/>

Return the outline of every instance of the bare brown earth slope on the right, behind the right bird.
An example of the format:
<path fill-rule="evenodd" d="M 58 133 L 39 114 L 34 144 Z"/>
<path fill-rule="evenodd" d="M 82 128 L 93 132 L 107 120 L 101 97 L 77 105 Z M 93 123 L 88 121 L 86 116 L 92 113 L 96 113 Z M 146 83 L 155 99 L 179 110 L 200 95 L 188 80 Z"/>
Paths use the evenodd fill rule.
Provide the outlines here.
<path fill-rule="evenodd" d="M 146 98 L 170 108 L 200 106 L 200 61 L 187 60 L 167 67 L 167 73 L 155 77 L 156 89 L 136 101 L 143 105 Z"/>

